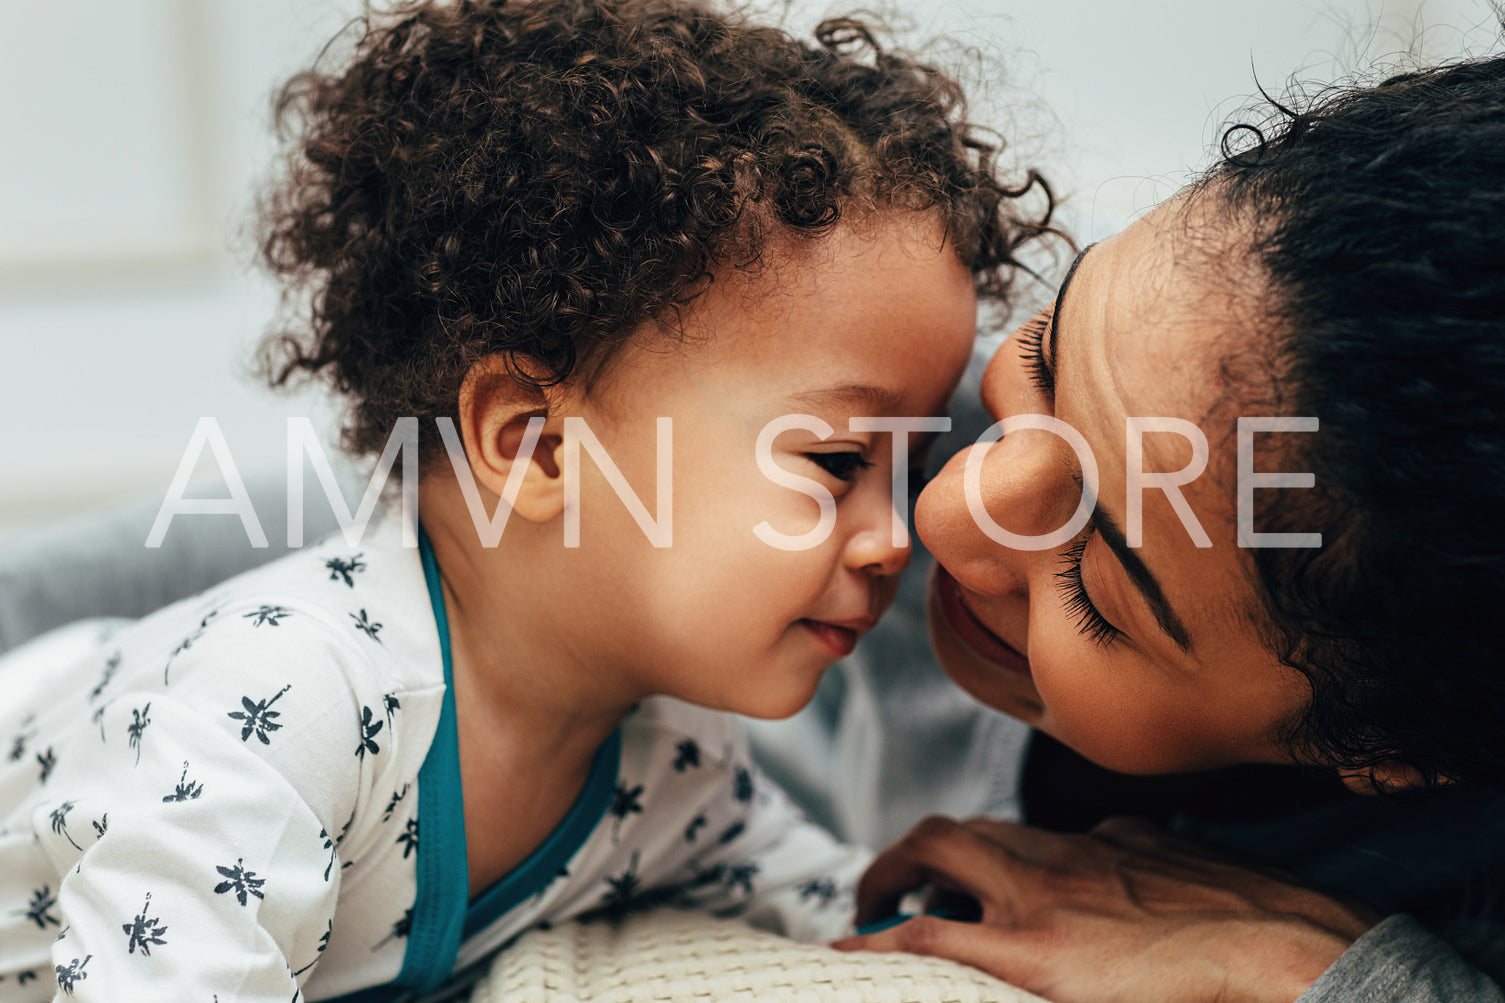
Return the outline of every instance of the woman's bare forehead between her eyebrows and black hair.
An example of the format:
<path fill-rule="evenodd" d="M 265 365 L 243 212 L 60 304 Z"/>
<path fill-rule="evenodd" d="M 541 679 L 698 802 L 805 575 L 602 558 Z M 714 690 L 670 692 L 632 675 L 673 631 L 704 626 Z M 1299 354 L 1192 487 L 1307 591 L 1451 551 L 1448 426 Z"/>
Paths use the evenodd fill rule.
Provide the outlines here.
<path fill-rule="evenodd" d="M 1207 467 L 1180 492 L 1212 548 L 1195 545 L 1163 489 L 1138 488 L 1142 557 L 1171 583 L 1172 599 L 1206 620 L 1206 599 L 1227 604 L 1230 590 L 1248 589 L 1236 532 L 1237 419 L 1242 401 L 1260 395 L 1230 386 L 1239 366 L 1227 361 L 1248 342 L 1242 297 L 1209 265 L 1210 244 L 1198 239 L 1192 252 L 1180 217 L 1181 206 L 1156 211 L 1082 259 L 1058 315 L 1058 414 L 1093 446 L 1100 503 L 1120 517 L 1132 489 L 1130 437 L 1142 447 L 1136 474 L 1181 471 L 1196 434 L 1206 440 Z M 1183 431 L 1139 431 L 1130 419 L 1177 419 Z"/>

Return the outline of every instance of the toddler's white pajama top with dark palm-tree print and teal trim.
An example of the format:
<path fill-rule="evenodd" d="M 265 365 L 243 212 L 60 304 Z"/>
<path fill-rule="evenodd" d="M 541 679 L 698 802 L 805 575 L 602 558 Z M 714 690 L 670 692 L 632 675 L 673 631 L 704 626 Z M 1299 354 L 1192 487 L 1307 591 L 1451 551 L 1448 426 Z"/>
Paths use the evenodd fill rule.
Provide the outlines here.
<path fill-rule="evenodd" d="M 668 697 L 468 901 L 420 542 L 388 518 L 0 658 L 0 1003 L 393 1000 L 530 926 L 644 901 L 846 932 L 867 854 L 760 777 L 733 717 Z"/>

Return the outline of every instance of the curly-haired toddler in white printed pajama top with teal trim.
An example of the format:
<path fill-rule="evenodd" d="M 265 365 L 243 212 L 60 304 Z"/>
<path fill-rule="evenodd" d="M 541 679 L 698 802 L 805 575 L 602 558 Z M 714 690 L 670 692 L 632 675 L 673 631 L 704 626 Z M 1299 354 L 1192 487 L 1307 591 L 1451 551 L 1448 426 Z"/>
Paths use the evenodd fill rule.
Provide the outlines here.
<path fill-rule="evenodd" d="M 644 901 L 847 926 L 864 855 L 724 712 L 798 711 L 892 598 L 927 425 L 882 419 L 945 413 L 1043 221 L 856 23 L 358 33 L 281 93 L 265 361 L 354 455 L 415 420 L 417 512 L 0 661 L 0 1000 L 397 998 Z"/>

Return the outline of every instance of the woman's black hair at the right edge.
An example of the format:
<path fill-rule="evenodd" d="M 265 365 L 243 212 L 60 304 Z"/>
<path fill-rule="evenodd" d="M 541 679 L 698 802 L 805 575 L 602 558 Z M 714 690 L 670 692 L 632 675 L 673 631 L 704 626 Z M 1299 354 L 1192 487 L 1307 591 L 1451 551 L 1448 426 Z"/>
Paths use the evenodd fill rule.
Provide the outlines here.
<path fill-rule="evenodd" d="M 1505 782 L 1505 59 L 1275 105 L 1201 184 L 1252 224 L 1278 389 L 1320 429 L 1279 470 L 1263 605 L 1339 767 Z M 1242 143 L 1242 151 L 1230 149 Z M 1294 465 L 1300 464 L 1300 465 Z"/>

